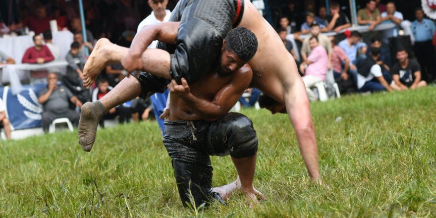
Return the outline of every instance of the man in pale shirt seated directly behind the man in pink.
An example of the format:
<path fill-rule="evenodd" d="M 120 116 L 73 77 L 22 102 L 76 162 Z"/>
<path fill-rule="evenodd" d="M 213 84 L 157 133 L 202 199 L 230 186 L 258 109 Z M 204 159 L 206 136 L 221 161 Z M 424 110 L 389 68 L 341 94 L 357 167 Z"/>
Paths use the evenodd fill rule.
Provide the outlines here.
<path fill-rule="evenodd" d="M 320 25 L 317 23 L 313 23 L 310 29 L 310 32 L 313 37 L 316 37 L 318 39 L 318 42 L 323 48 L 326 50 L 328 54 L 328 64 L 327 68 L 331 67 L 331 42 L 328 39 L 327 36 L 320 34 Z M 303 47 L 301 48 L 301 58 L 303 61 L 307 60 L 307 56 L 309 56 L 312 53 L 312 48 L 309 45 L 309 39 L 311 37 L 306 37 L 303 41 Z"/>

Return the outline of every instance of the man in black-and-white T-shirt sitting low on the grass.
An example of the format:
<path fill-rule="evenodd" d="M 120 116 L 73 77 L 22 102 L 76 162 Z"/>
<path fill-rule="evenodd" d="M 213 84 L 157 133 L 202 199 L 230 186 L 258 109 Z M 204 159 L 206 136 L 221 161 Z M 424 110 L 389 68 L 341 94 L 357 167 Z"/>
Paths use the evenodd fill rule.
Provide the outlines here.
<path fill-rule="evenodd" d="M 383 77 L 382 68 L 376 62 L 379 57 L 380 49 L 372 48 L 371 55 L 357 64 L 357 88 L 360 92 L 393 91 Z"/>

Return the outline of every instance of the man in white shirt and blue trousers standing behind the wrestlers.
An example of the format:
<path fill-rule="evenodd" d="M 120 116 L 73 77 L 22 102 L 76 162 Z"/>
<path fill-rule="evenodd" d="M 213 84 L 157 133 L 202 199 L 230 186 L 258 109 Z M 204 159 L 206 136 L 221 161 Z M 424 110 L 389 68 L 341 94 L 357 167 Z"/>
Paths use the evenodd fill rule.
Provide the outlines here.
<path fill-rule="evenodd" d="M 139 32 L 142 27 L 167 22 L 169 17 L 171 16 L 171 11 L 166 10 L 166 4 L 168 0 L 148 0 L 148 5 L 153 9 L 152 13 L 146 17 L 141 23 L 138 25 Z M 158 41 L 153 41 L 152 44 L 148 47 L 149 49 L 155 49 L 158 45 Z M 158 120 L 159 127 L 161 128 L 161 133 L 163 134 L 165 126 L 163 125 L 163 119 L 160 119 L 159 116 L 163 113 L 163 109 L 166 106 L 166 99 L 168 98 L 168 90 L 161 93 L 156 93 L 150 97 L 153 103 L 153 112 L 155 113 L 155 117 Z"/>

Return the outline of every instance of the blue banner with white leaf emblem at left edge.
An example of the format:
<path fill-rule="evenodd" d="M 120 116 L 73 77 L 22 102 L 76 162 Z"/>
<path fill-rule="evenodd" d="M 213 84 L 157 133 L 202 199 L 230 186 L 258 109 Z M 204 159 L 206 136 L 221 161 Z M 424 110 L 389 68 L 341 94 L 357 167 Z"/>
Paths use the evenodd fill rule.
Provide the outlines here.
<path fill-rule="evenodd" d="M 46 84 L 24 85 L 21 93 L 12 95 L 9 87 L 0 87 L 0 97 L 6 108 L 12 130 L 41 127 L 43 107 L 38 103 L 38 92 Z"/>

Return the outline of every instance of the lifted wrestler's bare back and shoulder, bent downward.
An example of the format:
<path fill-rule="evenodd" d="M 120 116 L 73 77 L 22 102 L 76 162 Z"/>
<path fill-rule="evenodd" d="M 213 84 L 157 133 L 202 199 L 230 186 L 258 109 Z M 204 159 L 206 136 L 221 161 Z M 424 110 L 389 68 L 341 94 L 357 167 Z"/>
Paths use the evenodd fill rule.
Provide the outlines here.
<path fill-rule="evenodd" d="M 238 27 L 250 29 L 259 42 L 256 55 L 249 62 L 253 69 L 252 85 L 284 103 L 283 87 L 289 87 L 291 81 L 294 81 L 293 77 L 300 78 L 292 55 L 286 51 L 275 30 L 249 0 L 245 0 L 244 14 Z"/>

